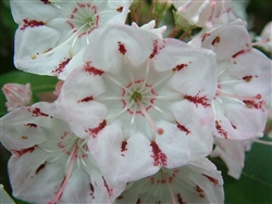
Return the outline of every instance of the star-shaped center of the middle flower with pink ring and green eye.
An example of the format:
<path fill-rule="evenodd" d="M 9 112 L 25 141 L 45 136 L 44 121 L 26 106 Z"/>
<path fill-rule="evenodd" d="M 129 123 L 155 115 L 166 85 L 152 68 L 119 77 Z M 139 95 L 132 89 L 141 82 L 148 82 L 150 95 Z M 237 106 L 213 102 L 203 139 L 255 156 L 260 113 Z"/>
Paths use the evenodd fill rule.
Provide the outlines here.
<path fill-rule="evenodd" d="M 168 82 L 173 75 L 172 69 L 156 71 L 150 59 L 137 68 L 124 63 L 120 73 L 102 75 L 107 91 L 94 99 L 106 105 L 104 119 L 109 124 L 122 124 L 126 139 L 141 132 L 152 141 L 156 135 L 164 132 L 159 123 L 176 123 L 169 104 L 182 97 L 169 88 Z"/>

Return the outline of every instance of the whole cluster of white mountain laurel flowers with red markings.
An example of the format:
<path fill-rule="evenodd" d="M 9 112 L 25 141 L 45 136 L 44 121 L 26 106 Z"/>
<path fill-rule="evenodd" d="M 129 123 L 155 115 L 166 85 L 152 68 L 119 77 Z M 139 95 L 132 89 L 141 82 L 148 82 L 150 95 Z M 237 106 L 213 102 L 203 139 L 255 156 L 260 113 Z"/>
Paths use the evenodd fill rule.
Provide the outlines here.
<path fill-rule="evenodd" d="M 2 88 L 13 196 L 224 203 L 221 171 L 207 156 L 238 179 L 271 103 L 271 60 L 252 48 L 244 20 L 228 21 L 231 1 L 165 1 L 161 13 L 156 1 L 10 3 L 16 68 L 59 79 L 55 101 L 32 106 L 29 84 Z M 182 36 L 162 21 L 169 8 L 189 25 Z M 188 36 L 196 27 L 203 29 Z"/>

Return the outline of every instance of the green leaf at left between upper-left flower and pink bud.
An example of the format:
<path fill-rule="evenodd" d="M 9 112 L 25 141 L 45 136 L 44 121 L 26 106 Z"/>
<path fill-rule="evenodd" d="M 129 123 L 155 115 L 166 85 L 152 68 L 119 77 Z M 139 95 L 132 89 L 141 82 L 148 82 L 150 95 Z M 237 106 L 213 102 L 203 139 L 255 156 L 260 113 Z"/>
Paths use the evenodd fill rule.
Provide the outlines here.
<path fill-rule="evenodd" d="M 3 87 L 4 84 L 16 82 L 25 85 L 30 82 L 34 102 L 39 101 L 38 93 L 49 92 L 54 90 L 54 86 L 58 82 L 55 77 L 40 76 L 28 74 L 20 71 L 10 72 L 8 74 L 0 76 L 0 86 Z M 0 116 L 7 114 L 7 107 L 4 105 L 5 98 L 3 92 L 0 93 Z"/>

